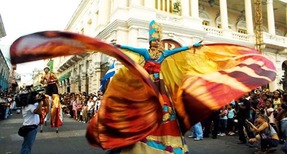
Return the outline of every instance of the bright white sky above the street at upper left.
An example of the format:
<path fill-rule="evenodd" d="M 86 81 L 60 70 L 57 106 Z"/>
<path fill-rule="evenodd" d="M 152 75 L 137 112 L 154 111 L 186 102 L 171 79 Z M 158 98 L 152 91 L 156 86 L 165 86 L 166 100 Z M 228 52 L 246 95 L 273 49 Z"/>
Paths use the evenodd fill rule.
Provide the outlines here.
<path fill-rule="evenodd" d="M 9 60 L 11 44 L 23 35 L 64 30 L 80 3 L 81 0 L 1 0 L 0 14 L 7 35 L 0 39 L 4 57 Z M 17 72 L 32 73 L 34 68 L 45 65 L 43 61 L 18 64 Z"/>

